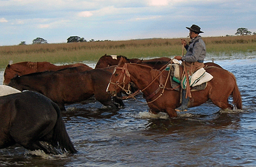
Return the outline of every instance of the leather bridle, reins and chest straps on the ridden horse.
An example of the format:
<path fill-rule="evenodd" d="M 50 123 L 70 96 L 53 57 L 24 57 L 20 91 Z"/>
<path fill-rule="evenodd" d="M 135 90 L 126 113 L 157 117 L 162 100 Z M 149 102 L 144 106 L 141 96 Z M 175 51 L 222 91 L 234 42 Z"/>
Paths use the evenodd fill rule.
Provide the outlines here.
<path fill-rule="evenodd" d="M 114 72 L 113 72 L 113 75 L 115 75 L 116 69 L 120 69 L 120 70 L 122 70 L 122 72 L 121 72 L 121 74 L 120 74 L 118 80 L 116 81 L 116 83 L 111 81 L 111 80 L 112 80 L 112 77 L 111 77 L 111 79 L 110 79 L 110 84 L 113 84 L 113 85 L 115 85 L 115 87 L 119 87 L 122 91 L 126 92 L 126 94 L 127 94 L 128 96 L 123 96 L 123 97 L 121 97 L 122 100 L 124 100 L 124 99 L 129 99 L 129 98 L 134 98 L 134 99 L 135 99 L 135 96 L 136 96 L 136 95 L 138 95 L 140 92 L 143 92 L 143 91 L 146 90 L 148 87 L 150 87 L 150 86 L 153 84 L 153 82 L 159 77 L 159 82 L 160 82 L 160 84 L 159 84 L 158 88 L 157 88 L 152 94 L 150 94 L 149 96 L 144 97 L 146 100 L 150 100 L 150 99 L 152 99 L 155 95 L 157 95 L 157 94 L 162 90 L 161 94 L 160 94 L 157 98 L 155 98 L 154 100 L 152 100 L 152 101 L 150 101 L 150 102 L 147 102 L 147 103 L 152 103 L 152 102 L 154 102 L 155 100 L 157 100 L 159 97 L 161 97 L 161 96 L 163 95 L 164 90 L 175 90 L 175 89 L 177 89 L 178 87 L 180 87 L 180 86 L 177 86 L 176 88 L 165 88 L 165 87 L 166 87 L 166 84 L 167 84 L 167 81 L 168 81 L 168 78 L 169 78 L 169 75 L 170 75 L 170 70 L 169 70 L 169 72 L 168 72 L 168 75 L 167 75 L 167 78 L 166 78 L 166 80 L 165 80 L 165 83 L 163 84 L 163 75 L 162 75 L 162 73 L 163 73 L 164 70 L 162 70 L 162 69 L 164 69 L 168 64 L 172 64 L 172 63 L 173 63 L 173 59 L 170 60 L 166 65 L 164 65 L 164 66 L 159 70 L 159 74 L 150 82 L 150 84 L 149 84 L 148 86 L 146 86 L 146 87 L 145 87 L 143 90 L 141 90 L 141 91 L 140 91 L 140 90 L 137 90 L 137 91 L 134 92 L 133 94 L 131 94 L 131 91 L 129 90 L 130 87 L 131 87 L 131 86 L 130 86 L 131 74 L 129 73 L 129 71 L 128 71 L 128 69 L 127 69 L 127 64 L 126 64 L 126 63 L 124 64 L 123 67 L 118 67 L 118 66 L 115 67 L 115 70 L 114 70 Z M 162 71 L 161 71 L 161 70 L 162 70 Z M 161 71 L 161 72 L 160 72 L 160 71 Z M 123 76 L 123 75 L 124 75 L 124 76 Z M 122 79 L 122 82 L 121 82 L 120 80 L 121 80 L 121 77 L 122 77 L 122 76 L 123 76 L 123 79 Z M 125 77 L 129 78 L 129 87 L 128 87 L 128 90 L 124 89 L 124 86 L 125 86 L 125 85 L 124 85 Z M 120 84 L 123 84 L 123 87 L 121 87 Z M 116 94 L 116 92 L 115 92 L 115 94 Z"/>

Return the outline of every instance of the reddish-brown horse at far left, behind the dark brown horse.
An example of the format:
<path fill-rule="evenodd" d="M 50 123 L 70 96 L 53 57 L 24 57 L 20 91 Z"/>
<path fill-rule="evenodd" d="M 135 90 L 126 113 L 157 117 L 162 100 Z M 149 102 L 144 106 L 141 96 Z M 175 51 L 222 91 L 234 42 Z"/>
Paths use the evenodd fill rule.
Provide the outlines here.
<path fill-rule="evenodd" d="M 92 69 L 91 67 L 82 63 L 62 65 L 62 66 L 56 66 L 49 62 L 20 62 L 12 65 L 8 64 L 4 72 L 4 85 L 8 85 L 10 80 L 16 75 L 22 76 L 22 75 L 26 75 L 34 72 L 42 72 L 47 70 L 57 71 L 63 68 L 78 67 L 78 66 L 82 66 L 84 68 L 87 68 L 88 70 Z"/>

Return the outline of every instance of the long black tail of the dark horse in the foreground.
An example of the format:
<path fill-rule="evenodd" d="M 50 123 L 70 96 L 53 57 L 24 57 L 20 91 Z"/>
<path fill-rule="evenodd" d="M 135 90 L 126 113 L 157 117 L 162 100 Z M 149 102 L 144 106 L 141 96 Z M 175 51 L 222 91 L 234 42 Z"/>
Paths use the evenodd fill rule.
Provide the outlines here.
<path fill-rule="evenodd" d="M 57 112 L 57 121 L 53 129 L 53 143 L 54 145 L 59 145 L 63 152 L 76 153 L 77 151 L 70 140 L 66 126 L 62 120 L 61 111 L 56 103 L 52 102 L 52 105 Z"/>

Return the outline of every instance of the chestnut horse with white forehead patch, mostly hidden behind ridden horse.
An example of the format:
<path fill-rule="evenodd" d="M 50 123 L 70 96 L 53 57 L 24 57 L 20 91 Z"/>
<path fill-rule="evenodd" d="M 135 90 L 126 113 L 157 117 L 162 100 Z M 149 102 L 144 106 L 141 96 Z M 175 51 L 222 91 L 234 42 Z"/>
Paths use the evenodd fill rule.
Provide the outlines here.
<path fill-rule="evenodd" d="M 154 69 L 160 70 L 164 65 L 167 65 L 172 59 L 162 57 L 162 58 L 155 58 L 155 59 L 148 59 L 148 60 L 140 60 L 140 59 L 127 59 L 126 57 L 122 55 L 103 55 L 98 63 L 96 64 L 95 68 L 105 68 L 109 66 L 116 66 L 120 59 L 124 58 L 125 63 L 137 63 L 137 64 L 142 64 L 142 65 L 147 65 L 150 66 Z M 215 63 L 205 63 L 205 66 L 215 66 L 222 68 L 221 66 L 215 64 Z"/>

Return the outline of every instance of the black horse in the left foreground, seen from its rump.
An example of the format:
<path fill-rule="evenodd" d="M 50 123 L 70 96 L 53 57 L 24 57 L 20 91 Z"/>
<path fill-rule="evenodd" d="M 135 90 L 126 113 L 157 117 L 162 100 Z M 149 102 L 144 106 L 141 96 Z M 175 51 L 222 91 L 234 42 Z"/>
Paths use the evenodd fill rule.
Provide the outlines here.
<path fill-rule="evenodd" d="M 0 97 L 0 118 L 0 149 L 19 144 L 49 154 L 76 152 L 58 105 L 44 95 L 26 91 Z"/>

